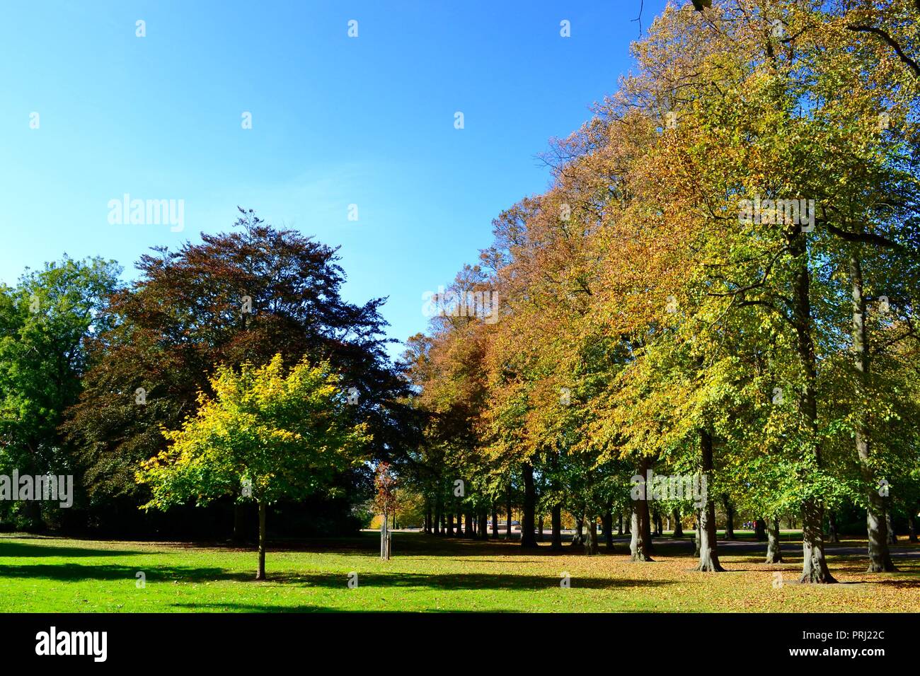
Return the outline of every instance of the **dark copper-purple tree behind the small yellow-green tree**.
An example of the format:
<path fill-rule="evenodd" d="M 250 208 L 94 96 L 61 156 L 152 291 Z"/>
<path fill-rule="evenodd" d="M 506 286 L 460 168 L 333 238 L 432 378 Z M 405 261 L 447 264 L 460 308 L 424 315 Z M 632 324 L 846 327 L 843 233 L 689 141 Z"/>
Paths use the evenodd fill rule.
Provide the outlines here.
<path fill-rule="evenodd" d="M 216 364 L 265 363 L 279 353 L 285 363 L 328 361 L 353 388 L 353 418 L 373 429 L 372 453 L 400 447 L 409 436 L 406 391 L 385 353 L 384 301 L 343 300 L 338 261 L 335 248 L 242 209 L 231 232 L 140 258 L 138 279 L 99 316 L 84 391 L 63 426 L 100 521 L 112 519 L 114 505 L 147 499 L 133 480 L 136 465 L 157 453 L 161 427 L 177 429 L 199 391 L 210 394 Z"/>

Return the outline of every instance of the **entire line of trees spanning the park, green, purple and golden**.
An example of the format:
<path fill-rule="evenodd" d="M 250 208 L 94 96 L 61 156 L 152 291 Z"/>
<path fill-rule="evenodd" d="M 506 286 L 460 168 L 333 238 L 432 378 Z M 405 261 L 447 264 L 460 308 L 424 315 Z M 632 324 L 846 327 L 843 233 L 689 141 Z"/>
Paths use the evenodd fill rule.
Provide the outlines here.
<path fill-rule="evenodd" d="M 201 533 L 243 537 L 258 505 L 264 577 L 268 505 L 353 528 L 378 461 L 431 533 L 519 509 L 521 544 L 548 515 L 558 549 L 570 515 L 593 554 L 616 520 L 649 561 L 686 521 L 719 571 L 719 507 L 768 561 L 794 518 L 802 580 L 831 582 L 825 538 L 861 510 L 869 570 L 892 570 L 920 498 L 918 19 L 668 6 L 396 364 L 384 299 L 344 301 L 335 249 L 251 211 L 128 284 L 99 258 L 27 270 L 0 290 L 0 470 L 78 490 L 0 521 L 175 535 L 199 504 Z"/>

